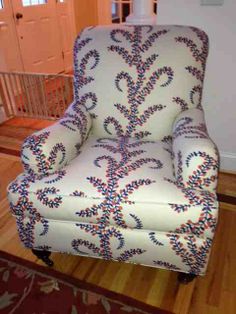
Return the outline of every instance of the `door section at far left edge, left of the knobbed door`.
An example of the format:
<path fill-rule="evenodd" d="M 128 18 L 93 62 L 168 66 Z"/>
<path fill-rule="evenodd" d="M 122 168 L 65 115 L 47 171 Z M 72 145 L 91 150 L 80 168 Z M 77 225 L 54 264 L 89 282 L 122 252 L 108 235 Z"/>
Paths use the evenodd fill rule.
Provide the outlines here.
<path fill-rule="evenodd" d="M 10 0 L 0 0 L 0 71 L 22 71 Z"/>

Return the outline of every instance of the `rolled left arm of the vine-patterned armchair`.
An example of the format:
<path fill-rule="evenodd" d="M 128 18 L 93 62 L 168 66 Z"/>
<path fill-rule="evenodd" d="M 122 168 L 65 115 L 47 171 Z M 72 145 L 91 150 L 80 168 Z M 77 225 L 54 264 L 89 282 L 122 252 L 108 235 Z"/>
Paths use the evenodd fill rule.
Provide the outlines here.
<path fill-rule="evenodd" d="M 77 156 L 90 129 L 86 108 L 72 103 L 58 122 L 26 138 L 21 150 L 25 171 L 46 176 L 59 170 Z"/>

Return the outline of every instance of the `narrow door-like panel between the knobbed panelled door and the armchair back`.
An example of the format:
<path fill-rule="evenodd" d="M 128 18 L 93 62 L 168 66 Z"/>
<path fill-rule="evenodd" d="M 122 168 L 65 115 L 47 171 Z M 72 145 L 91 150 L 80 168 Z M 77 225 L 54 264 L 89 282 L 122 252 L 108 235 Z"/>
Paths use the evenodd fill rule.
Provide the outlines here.
<path fill-rule="evenodd" d="M 73 1 L 57 0 L 56 8 L 64 58 L 64 68 L 66 72 L 70 72 L 73 68 L 73 45 L 76 37 Z"/>

